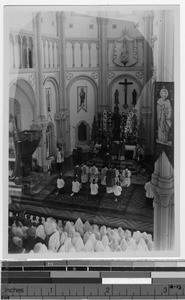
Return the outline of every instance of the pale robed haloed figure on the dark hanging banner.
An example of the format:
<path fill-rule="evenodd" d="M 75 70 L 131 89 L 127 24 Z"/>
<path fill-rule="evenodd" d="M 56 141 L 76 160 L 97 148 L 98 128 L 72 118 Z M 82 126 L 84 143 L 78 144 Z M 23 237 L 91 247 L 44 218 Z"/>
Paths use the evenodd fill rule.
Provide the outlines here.
<path fill-rule="evenodd" d="M 168 90 L 162 88 L 160 91 L 161 98 L 157 101 L 157 123 L 158 123 L 158 139 L 157 142 L 171 146 L 169 138 L 170 128 L 172 126 L 172 108 L 168 97 Z"/>

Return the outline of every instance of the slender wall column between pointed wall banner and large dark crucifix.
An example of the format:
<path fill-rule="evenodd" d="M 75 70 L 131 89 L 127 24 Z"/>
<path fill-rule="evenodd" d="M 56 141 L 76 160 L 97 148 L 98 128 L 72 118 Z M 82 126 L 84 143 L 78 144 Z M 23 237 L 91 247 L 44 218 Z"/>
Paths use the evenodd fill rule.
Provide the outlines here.
<path fill-rule="evenodd" d="M 107 99 L 107 19 L 97 18 L 98 23 L 98 63 L 99 63 L 99 93 L 98 111 L 108 108 Z"/>

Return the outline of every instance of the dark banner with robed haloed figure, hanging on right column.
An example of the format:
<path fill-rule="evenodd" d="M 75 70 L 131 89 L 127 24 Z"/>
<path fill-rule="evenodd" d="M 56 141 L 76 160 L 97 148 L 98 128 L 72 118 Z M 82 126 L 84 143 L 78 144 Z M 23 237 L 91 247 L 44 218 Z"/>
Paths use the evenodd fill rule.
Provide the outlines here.
<path fill-rule="evenodd" d="M 174 164 L 174 82 L 156 82 L 154 90 L 155 154 L 164 151 Z"/>

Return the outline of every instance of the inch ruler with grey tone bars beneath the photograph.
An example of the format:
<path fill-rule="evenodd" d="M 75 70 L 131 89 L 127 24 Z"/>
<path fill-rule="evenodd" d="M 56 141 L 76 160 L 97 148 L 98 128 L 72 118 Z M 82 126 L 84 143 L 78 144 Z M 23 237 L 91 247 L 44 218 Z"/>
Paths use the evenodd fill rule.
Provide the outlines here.
<path fill-rule="evenodd" d="M 2 262 L 1 299 L 185 299 L 184 262 L 106 263 Z"/>

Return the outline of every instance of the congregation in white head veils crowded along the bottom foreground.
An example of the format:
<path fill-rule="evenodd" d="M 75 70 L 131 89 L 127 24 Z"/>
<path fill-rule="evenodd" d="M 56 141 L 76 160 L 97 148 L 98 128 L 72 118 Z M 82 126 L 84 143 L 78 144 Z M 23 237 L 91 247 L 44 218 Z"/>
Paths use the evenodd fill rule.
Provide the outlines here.
<path fill-rule="evenodd" d="M 123 228 L 9 213 L 9 253 L 149 252 L 152 235 Z"/>

